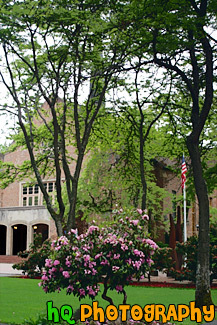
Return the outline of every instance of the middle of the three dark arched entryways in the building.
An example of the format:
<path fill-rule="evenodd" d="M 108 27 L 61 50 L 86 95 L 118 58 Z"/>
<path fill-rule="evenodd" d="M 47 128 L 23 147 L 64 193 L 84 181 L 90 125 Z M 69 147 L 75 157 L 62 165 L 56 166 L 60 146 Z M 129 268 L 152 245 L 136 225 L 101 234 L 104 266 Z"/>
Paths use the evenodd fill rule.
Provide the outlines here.
<path fill-rule="evenodd" d="M 13 229 L 13 255 L 20 251 L 26 250 L 27 226 L 17 224 L 12 226 Z"/>

